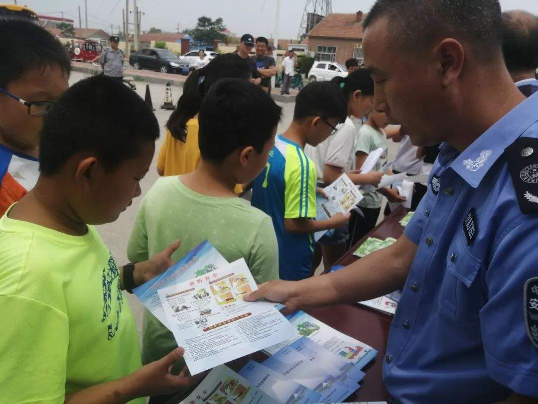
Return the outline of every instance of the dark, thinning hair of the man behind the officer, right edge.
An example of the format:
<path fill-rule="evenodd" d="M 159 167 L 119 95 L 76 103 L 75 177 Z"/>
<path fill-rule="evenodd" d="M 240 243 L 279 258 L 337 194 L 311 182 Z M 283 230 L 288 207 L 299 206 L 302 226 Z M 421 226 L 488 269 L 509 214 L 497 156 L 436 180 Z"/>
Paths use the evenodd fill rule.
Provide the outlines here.
<path fill-rule="evenodd" d="M 538 17 L 521 10 L 502 13 L 502 53 L 508 70 L 538 67 Z"/>

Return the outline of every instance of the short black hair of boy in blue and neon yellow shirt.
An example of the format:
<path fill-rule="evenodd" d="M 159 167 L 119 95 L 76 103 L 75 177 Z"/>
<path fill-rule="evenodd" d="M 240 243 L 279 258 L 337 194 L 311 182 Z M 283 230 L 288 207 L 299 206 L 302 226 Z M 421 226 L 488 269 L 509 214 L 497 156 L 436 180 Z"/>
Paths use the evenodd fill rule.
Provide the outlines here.
<path fill-rule="evenodd" d="M 341 89 L 330 81 L 315 81 L 303 88 L 295 98 L 294 121 L 309 116 L 323 119 L 336 118 L 344 122 L 348 115 L 348 102 Z"/>

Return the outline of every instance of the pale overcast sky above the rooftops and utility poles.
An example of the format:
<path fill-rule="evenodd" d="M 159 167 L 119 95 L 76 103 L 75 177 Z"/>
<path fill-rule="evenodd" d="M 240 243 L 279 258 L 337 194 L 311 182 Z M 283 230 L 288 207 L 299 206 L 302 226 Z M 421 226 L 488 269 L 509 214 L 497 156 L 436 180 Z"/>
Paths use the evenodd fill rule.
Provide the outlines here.
<path fill-rule="evenodd" d="M 122 24 L 122 9 L 125 0 L 87 0 L 88 27 L 101 28 L 110 32 L 110 24 L 114 24 L 114 32 Z M 6 0 L 6 3 L 9 0 Z M 319 2 L 319 0 L 318 0 Z M 129 0 L 132 11 L 133 0 Z M 200 16 L 211 18 L 222 17 L 224 24 L 238 36 L 250 33 L 256 36 L 272 36 L 275 26 L 276 0 L 137 0 L 142 16 L 142 29 L 151 26 L 164 31 L 175 32 L 178 28 L 192 28 Z M 279 38 L 296 38 L 299 32 L 302 12 L 306 0 L 282 0 L 280 8 Z M 374 0 L 332 0 L 333 12 L 367 12 Z M 538 0 L 500 0 L 503 10 L 522 9 L 538 15 Z M 75 20 L 79 26 L 80 5 L 82 11 L 82 27 L 84 27 L 84 0 L 19 0 L 38 14 Z M 233 4 L 233 6 L 223 6 Z M 131 17 L 132 22 L 132 17 Z M 131 25 L 132 29 L 132 25 Z"/>

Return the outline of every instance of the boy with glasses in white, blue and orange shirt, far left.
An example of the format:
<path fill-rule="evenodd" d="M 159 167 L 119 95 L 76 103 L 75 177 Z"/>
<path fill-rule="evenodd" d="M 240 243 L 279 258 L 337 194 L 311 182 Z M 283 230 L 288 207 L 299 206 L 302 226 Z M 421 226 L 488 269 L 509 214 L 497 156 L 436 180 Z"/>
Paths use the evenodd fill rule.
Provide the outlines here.
<path fill-rule="evenodd" d="M 0 21 L 0 215 L 34 185 L 43 118 L 68 87 L 65 48 L 43 28 Z"/>

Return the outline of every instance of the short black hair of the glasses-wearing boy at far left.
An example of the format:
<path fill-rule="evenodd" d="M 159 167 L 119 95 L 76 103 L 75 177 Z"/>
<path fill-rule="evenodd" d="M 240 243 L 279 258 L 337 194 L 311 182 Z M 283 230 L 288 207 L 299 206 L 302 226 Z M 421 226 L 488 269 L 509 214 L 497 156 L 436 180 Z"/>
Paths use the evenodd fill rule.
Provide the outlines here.
<path fill-rule="evenodd" d="M 6 88 L 30 69 L 57 65 L 69 76 L 65 47 L 50 32 L 24 20 L 0 19 L 0 87 Z"/>

